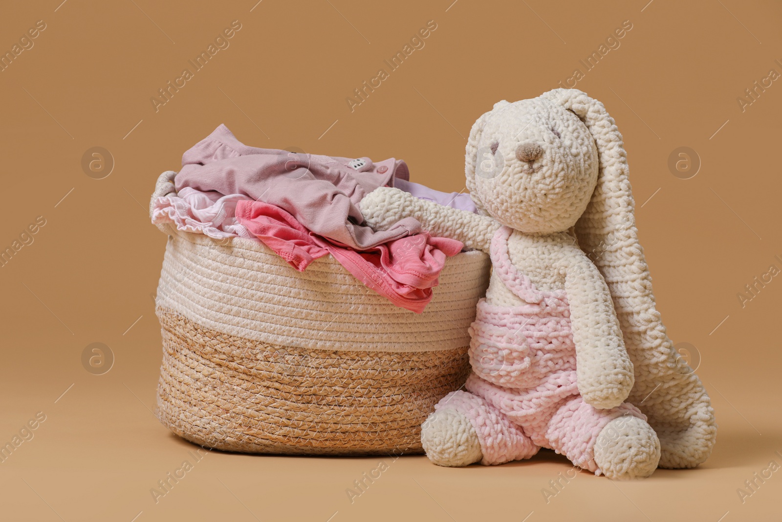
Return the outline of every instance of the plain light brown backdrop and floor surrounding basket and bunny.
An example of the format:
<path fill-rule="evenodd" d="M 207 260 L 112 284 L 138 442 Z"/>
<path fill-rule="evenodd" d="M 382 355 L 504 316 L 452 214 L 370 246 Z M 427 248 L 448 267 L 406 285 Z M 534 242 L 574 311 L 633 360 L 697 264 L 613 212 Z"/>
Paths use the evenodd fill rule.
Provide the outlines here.
<path fill-rule="evenodd" d="M 782 72 L 778 2 L 61 1 L 9 2 L 0 16 L 3 52 L 47 24 L 0 72 L 0 247 L 46 219 L 0 268 L 0 443 L 46 415 L 0 464 L 3 520 L 780 520 L 782 473 L 743 504 L 736 491 L 782 464 L 782 281 L 745 308 L 737 299 L 769 265 L 782 268 L 782 85 L 744 112 L 737 103 L 769 69 Z M 242 29 L 230 47 L 155 112 L 149 98 L 231 20 Z M 425 48 L 351 113 L 346 97 L 428 20 L 438 27 Z M 461 470 L 386 459 L 351 504 L 346 488 L 378 459 L 212 452 L 156 504 L 149 489 L 195 448 L 152 415 L 151 295 L 165 243 L 147 217 L 156 176 L 225 123 L 256 146 L 404 158 L 414 181 L 461 190 L 475 118 L 583 70 L 579 59 L 623 20 L 633 29 L 577 87 L 624 135 L 658 308 L 673 340 L 697 347 L 716 409 L 712 458 L 632 484 L 580 473 L 548 504 L 541 489 L 571 467 L 551 452 Z M 92 146 L 116 161 L 107 178 L 81 169 Z M 679 146 L 701 158 L 694 178 L 669 171 Z M 116 356 L 102 376 L 81 365 L 93 342 Z"/>

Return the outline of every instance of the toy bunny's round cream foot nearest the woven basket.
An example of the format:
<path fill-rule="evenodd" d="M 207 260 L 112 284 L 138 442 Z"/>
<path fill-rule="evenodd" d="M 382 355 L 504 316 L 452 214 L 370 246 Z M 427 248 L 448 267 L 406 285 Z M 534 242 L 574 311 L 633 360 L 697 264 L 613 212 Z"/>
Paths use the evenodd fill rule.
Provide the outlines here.
<path fill-rule="evenodd" d="M 472 423 L 451 408 L 439 409 L 426 419 L 421 426 L 421 445 L 438 466 L 469 466 L 483 458 Z"/>

